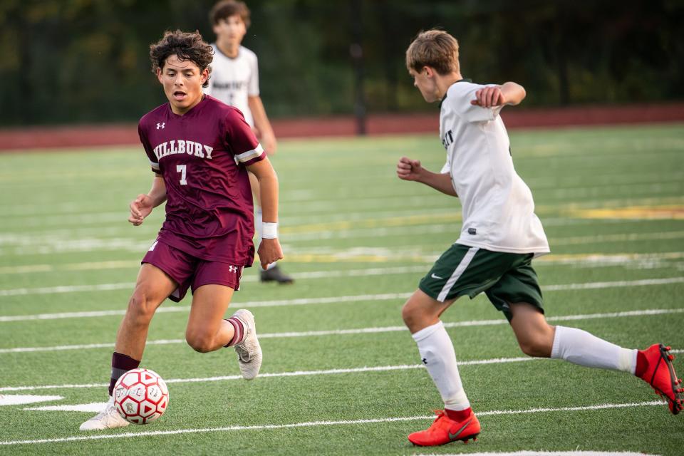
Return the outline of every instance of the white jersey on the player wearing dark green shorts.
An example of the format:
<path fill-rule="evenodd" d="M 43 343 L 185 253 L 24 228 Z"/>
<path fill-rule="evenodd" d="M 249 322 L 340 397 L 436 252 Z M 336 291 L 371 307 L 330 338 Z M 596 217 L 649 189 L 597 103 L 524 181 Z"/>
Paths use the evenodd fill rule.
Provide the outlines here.
<path fill-rule="evenodd" d="M 459 81 L 442 100 L 440 138 L 447 150 L 442 172 L 450 173 L 463 209 L 457 243 L 494 252 L 548 253 L 532 192 L 513 167 L 508 133 L 499 117 L 502 107 L 470 103 L 483 87 Z"/>

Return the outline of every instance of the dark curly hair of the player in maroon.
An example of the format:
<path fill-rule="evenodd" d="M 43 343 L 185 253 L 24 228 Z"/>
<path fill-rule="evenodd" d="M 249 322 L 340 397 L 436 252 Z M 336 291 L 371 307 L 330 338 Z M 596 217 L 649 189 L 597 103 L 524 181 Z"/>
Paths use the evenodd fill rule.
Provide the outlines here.
<path fill-rule="evenodd" d="M 189 60 L 195 63 L 200 72 L 204 71 L 204 68 L 209 68 L 209 73 L 212 72 L 209 64 L 214 60 L 214 50 L 202 40 L 199 31 L 165 31 L 160 41 L 150 44 L 152 73 L 157 74 L 157 69 L 162 70 L 166 59 L 173 55 L 176 55 L 180 61 Z M 209 78 L 202 86 L 209 86 Z"/>

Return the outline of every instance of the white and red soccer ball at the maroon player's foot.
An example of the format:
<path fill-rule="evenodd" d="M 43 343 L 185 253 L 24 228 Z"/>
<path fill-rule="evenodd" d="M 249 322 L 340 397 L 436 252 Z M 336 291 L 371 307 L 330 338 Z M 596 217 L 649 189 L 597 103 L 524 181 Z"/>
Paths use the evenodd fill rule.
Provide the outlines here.
<path fill-rule="evenodd" d="M 169 406 L 169 388 L 150 369 L 133 369 L 114 385 L 114 405 L 125 420 L 146 425 L 157 420 Z"/>

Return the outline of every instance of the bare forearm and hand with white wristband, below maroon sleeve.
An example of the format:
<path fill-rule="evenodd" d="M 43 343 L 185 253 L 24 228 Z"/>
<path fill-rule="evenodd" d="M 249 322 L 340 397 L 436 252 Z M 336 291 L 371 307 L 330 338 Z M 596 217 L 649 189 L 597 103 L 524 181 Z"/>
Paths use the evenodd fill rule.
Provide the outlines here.
<path fill-rule="evenodd" d="M 249 165 L 247 170 L 259 180 L 263 229 L 257 253 L 261 268 L 266 269 L 274 261 L 283 259 L 283 249 L 278 240 L 278 176 L 268 157 Z"/>

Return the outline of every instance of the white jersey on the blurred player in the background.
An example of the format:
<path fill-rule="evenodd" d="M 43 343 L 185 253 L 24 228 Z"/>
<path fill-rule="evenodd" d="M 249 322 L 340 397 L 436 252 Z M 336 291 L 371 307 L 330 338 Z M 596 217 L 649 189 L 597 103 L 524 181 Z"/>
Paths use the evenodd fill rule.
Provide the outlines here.
<path fill-rule="evenodd" d="M 259 95 L 257 54 L 240 46 L 237 57 L 230 58 L 219 50 L 216 43 L 212 43 L 212 48 L 212 74 L 209 78 L 209 87 L 204 88 L 204 93 L 241 110 L 244 120 L 254 127 L 254 118 L 247 99 Z"/>

